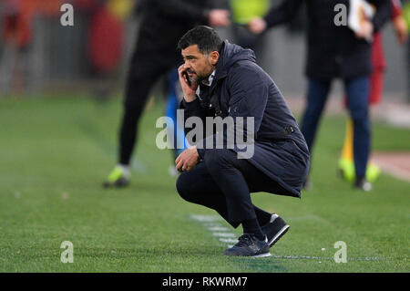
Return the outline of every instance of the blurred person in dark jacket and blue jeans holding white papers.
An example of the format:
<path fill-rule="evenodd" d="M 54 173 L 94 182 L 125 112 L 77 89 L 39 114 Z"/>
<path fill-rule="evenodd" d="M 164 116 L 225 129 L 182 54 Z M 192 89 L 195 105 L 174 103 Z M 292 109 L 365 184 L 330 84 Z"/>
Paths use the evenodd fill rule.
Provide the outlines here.
<path fill-rule="evenodd" d="M 288 22 L 303 0 L 286 0 L 273 7 L 263 18 L 250 21 L 250 29 L 261 34 L 267 28 Z M 302 117 L 302 133 L 311 155 L 316 130 L 321 119 L 334 78 L 342 78 L 348 107 L 354 121 L 354 187 L 370 191 L 372 184 L 365 179 L 370 154 L 370 120 L 367 98 L 371 73 L 371 44 L 366 40 L 384 25 L 390 16 L 390 0 L 369 1 L 376 11 L 372 19 L 362 19 L 360 30 L 354 32 L 347 25 L 336 26 L 335 5 L 349 6 L 349 1 L 306 0 L 308 15 L 307 64 L 309 79 L 307 106 Z M 309 181 L 305 182 L 309 188 Z"/>

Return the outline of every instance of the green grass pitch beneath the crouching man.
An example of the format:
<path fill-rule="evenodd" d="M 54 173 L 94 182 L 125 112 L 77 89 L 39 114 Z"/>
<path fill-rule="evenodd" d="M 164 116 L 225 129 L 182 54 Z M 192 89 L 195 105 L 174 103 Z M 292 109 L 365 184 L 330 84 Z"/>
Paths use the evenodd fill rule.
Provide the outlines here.
<path fill-rule="evenodd" d="M 301 200 L 253 194 L 292 227 L 272 248 L 279 257 L 250 259 L 223 256 L 224 246 L 190 219 L 215 213 L 175 190 L 171 154 L 155 146 L 163 108 L 140 124 L 130 187 L 103 190 L 116 161 L 119 99 L 0 99 L 0 272 L 410 271 L 409 183 L 383 174 L 366 193 L 339 179 L 343 117 L 323 120 L 311 192 Z M 374 122 L 373 136 L 375 151 L 410 150 L 408 130 Z M 74 245 L 73 264 L 60 262 L 63 241 Z M 333 261 L 337 241 L 347 244 L 346 264 Z"/>

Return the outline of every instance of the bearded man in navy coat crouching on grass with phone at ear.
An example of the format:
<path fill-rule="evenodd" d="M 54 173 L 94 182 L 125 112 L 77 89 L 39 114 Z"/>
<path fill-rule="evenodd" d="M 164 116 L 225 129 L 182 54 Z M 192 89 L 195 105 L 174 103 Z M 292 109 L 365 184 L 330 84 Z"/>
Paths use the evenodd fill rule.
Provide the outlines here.
<path fill-rule="evenodd" d="M 175 161 L 182 171 L 177 181 L 179 195 L 215 210 L 234 228 L 242 225 L 243 235 L 225 255 L 269 256 L 270 247 L 289 225 L 276 213 L 253 205 L 251 192 L 300 198 L 309 171 L 306 142 L 282 93 L 256 64 L 251 49 L 222 41 L 208 26 L 196 26 L 182 36 L 179 49 L 185 61 L 179 67 L 184 93 L 179 108 L 185 120 L 200 118 L 200 124 L 206 124 L 207 117 L 253 121 L 239 127 L 245 132 L 233 126 L 195 140 L 183 151 Z M 230 130 L 234 136 L 251 136 L 245 142 L 252 142 L 251 155 L 241 156 L 243 144 L 229 138 Z M 222 139 L 217 138 L 220 134 Z M 217 140 L 222 140 L 222 146 Z"/>

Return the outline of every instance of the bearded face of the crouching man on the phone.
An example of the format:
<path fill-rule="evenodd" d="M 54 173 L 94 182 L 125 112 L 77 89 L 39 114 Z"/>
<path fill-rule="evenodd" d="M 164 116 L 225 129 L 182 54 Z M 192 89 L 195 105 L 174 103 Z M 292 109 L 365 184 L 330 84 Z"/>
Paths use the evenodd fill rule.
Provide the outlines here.
<path fill-rule="evenodd" d="M 190 80 L 200 82 L 201 80 L 210 77 L 210 74 L 215 69 L 220 54 L 217 51 L 211 52 L 209 55 L 204 55 L 200 52 L 198 45 L 186 47 L 181 51 L 185 61 Z"/>

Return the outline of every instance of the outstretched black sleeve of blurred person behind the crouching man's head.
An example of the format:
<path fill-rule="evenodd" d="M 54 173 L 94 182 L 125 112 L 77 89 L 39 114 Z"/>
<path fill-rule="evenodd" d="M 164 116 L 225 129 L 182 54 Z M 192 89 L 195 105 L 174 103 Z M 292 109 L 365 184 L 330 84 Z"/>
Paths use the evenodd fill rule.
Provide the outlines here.
<path fill-rule="evenodd" d="M 190 1 L 183 0 L 150 1 L 163 15 L 208 23 L 210 9 L 207 5 L 192 5 Z"/>

